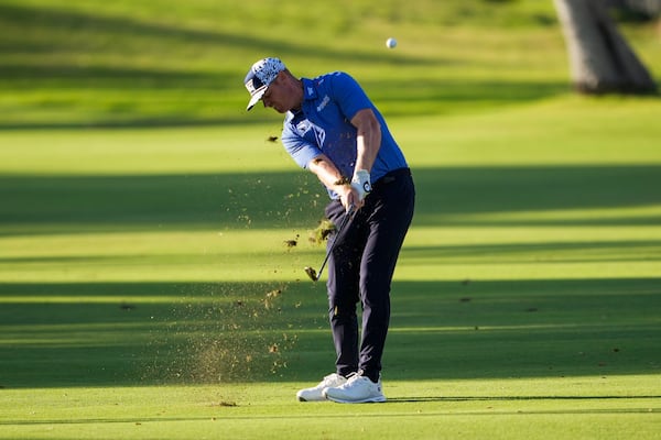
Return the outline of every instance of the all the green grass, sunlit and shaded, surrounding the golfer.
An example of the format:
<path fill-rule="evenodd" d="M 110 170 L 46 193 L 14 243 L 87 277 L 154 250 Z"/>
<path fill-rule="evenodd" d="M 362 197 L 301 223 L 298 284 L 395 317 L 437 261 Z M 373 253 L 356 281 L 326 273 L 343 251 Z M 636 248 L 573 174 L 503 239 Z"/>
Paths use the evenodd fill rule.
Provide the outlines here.
<path fill-rule="evenodd" d="M 661 100 L 572 96 L 550 0 L 378 3 L 0 0 L 0 439 L 661 438 Z M 267 55 L 413 168 L 386 404 L 295 402 L 326 196 L 245 111 Z"/>

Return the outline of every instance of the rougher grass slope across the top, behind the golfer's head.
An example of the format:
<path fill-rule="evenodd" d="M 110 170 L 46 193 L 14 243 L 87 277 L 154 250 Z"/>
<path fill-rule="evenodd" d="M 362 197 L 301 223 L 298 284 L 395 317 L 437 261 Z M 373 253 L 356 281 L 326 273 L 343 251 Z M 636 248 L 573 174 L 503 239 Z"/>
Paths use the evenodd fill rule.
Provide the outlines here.
<path fill-rule="evenodd" d="M 300 76 L 350 72 L 388 114 L 475 112 L 567 90 L 551 1 L 4 0 L 0 12 L 4 128 L 246 123 L 242 79 L 267 55 Z M 659 75 L 654 28 L 630 36 Z"/>

